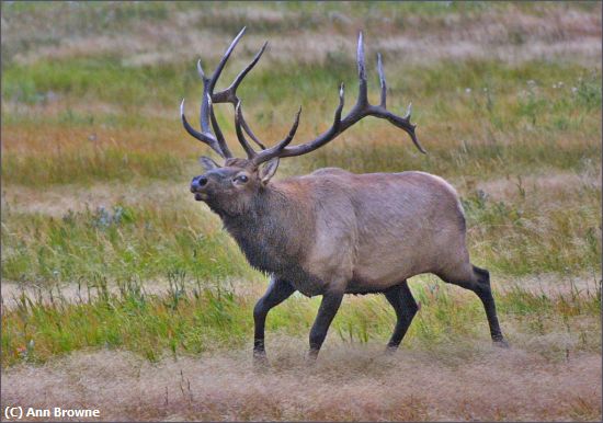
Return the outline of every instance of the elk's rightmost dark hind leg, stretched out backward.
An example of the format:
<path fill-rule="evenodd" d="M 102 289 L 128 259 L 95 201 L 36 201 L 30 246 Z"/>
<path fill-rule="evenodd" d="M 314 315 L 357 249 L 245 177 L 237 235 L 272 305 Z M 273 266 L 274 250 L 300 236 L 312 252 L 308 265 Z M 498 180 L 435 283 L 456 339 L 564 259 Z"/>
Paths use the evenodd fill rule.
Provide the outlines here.
<path fill-rule="evenodd" d="M 486 310 L 492 341 L 499 346 L 509 346 L 500 330 L 497 306 L 490 287 L 490 273 L 467 262 L 460 270 L 439 274 L 439 276 L 446 283 L 473 290 L 479 297 Z"/>

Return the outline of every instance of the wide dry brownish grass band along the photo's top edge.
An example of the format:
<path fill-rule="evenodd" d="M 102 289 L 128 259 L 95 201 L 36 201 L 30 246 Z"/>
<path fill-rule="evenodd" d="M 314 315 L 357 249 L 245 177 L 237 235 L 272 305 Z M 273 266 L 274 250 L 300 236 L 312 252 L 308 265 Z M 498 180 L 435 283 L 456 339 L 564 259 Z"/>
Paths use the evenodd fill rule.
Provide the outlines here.
<path fill-rule="evenodd" d="M 293 58 L 299 62 L 323 62 L 329 53 L 353 50 L 356 28 L 367 28 L 371 35 L 373 27 L 375 35 L 378 31 L 374 47 L 382 52 L 396 52 L 397 55 L 391 56 L 407 64 L 470 58 L 519 62 L 559 57 L 571 57 L 592 66 L 600 62 L 601 10 L 596 8 L 579 10 L 562 4 L 542 4 L 526 10 L 511 3 L 490 8 L 481 12 L 479 19 L 475 19 L 475 13 L 470 11 L 451 11 L 431 18 L 403 14 L 402 10 L 394 9 L 389 16 L 383 18 L 373 12 L 363 13 L 360 8 L 354 10 L 353 4 L 342 5 L 339 10 L 325 9 L 317 5 L 293 10 L 276 4 L 198 7 L 185 11 L 167 8 L 166 19 L 128 22 L 126 27 L 120 27 L 125 33 L 122 36 L 99 33 L 94 23 L 89 23 L 88 28 L 79 27 L 70 22 L 75 16 L 73 8 L 56 8 L 39 11 L 47 15 L 48 24 L 57 20 L 64 23 L 48 28 L 53 42 L 18 52 L 14 57 L 21 64 L 34 64 L 41 59 L 65 59 L 100 52 L 124 57 L 126 66 L 140 66 L 181 60 L 191 52 L 204 52 L 205 56 L 208 53 L 207 57 L 215 59 L 220 52 L 213 47 L 226 43 L 231 34 L 226 28 L 220 32 L 208 30 L 207 23 L 224 22 L 224 26 L 230 28 L 240 22 L 241 26 L 247 24 L 259 28 L 259 34 L 255 32 L 248 36 L 249 45 L 253 46 L 263 42 L 262 30 L 278 30 L 281 35 L 271 41 L 269 61 Z M 100 16 L 105 18 L 106 14 Z M 2 31 L 8 45 L 18 45 L 23 37 L 35 39 L 34 34 L 22 28 L 31 24 L 29 20 L 11 18 L 8 26 L 12 31 Z M 300 20 L 312 24 L 312 34 L 299 37 L 299 28 L 294 23 Z M 378 26 L 375 25 L 377 20 Z M 287 25 L 287 22 L 291 24 Z M 234 58 L 234 61 L 237 60 Z"/>

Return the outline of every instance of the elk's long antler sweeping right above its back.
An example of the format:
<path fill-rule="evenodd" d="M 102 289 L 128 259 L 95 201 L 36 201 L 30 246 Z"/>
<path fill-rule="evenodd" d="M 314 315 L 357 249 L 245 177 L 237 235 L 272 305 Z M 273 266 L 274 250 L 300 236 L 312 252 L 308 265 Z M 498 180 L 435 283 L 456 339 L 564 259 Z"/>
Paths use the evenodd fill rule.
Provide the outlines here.
<path fill-rule="evenodd" d="M 359 67 L 359 99 L 356 101 L 356 104 L 352 107 L 350 113 L 343 118 L 341 118 L 341 112 L 343 110 L 343 103 L 344 103 L 344 90 L 343 90 L 343 83 L 339 88 L 339 105 L 335 110 L 335 115 L 333 119 L 332 126 L 318 136 L 318 138 L 297 146 L 287 147 L 291 142 L 291 139 L 285 138 L 274 147 L 271 147 L 269 149 L 264 149 L 263 151 L 260 151 L 255 157 L 253 157 L 253 162 L 255 164 L 260 164 L 262 162 L 265 162 L 274 157 L 294 157 L 294 156 L 302 156 L 306 155 L 310 151 L 316 150 L 317 148 L 322 147 L 327 142 L 334 139 L 338 135 L 343 133 L 345 129 L 348 129 L 350 126 L 354 125 L 356 122 L 362 119 L 365 116 L 376 116 L 384 119 L 389 121 L 395 126 L 399 127 L 400 129 L 403 129 L 410 135 L 410 138 L 412 139 L 412 142 L 419 151 L 425 153 L 425 150 L 423 147 L 419 144 L 419 140 L 417 139 L 417 135 L 414 134 L 414 128 L 417 125 L 412 125 L 410 123 L 410 114 L 412 112 L 412 105 L 408 105 L 407 113 L 403 117 L 396 116 L 395 114 L 390 113 L 386 108 L 386 94 L 387 94 L 387 85 L 385 81 L 385 73 L 383 70 L 383 62 L 382 62 L 382 55 L 377 54 L 377 71 L 379 73 L 379 82 L 382 88 L 382 98 L 379 105 L 373 105 L 368 103 L 367 98 L 367 88 L 366 88 L 366 69 L 364 65 L 364 44 L 363 44 L 363 37 L 362 32 L 359 35 L 359 47 L 357 47 L 357 67 Z M 299 119 L 299 114 L 297 115 L 296 123 L 294 125 L 295 128 L 297 128 L 297 121 Z"/>

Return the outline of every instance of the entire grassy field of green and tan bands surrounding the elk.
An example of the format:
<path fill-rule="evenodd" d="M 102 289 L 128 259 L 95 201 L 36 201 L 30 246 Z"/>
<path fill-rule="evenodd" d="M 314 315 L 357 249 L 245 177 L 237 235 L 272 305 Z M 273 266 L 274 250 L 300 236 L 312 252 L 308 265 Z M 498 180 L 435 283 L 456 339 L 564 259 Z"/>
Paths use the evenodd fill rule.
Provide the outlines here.
<path fill-rule="evenodd" d="M 384 55 L 388 108 L 413 103 L 429 155 L 365 119 L 276 178 L 321 167 L 422 170 L 467 214 L 512 348 L 471 293 L 421 275 L 395 356 L 394 312 L 350 297 L 317 366 L 319 298 L 271 311 L 272 366 L 251 365 L 268 278 L 194 202 L 179 119 L 232 36 L 226 87 L 274 142 L 355 96 L 354 52 Z M 601 3 L 2 3 L 2 405 L 99 408 L 104 420 L 585 420 L 601 415 Z M 373 62 L 369 96 L 378 96 Z M 230 107 L 218 107 L 236 139 Z M 295 142 L 295 141 L 294 141 Z M 231 142 L 232 144 L 232 142 Z M 240 148 L 235 150 L 241 153 Z"/>

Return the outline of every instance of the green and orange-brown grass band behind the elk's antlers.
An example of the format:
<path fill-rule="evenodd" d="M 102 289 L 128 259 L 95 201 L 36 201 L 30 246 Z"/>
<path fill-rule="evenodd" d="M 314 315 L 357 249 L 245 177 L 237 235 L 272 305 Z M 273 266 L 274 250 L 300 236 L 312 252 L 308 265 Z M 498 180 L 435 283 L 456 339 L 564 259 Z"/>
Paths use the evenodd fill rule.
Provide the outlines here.
<path fill-rule="evenodd" d="M 194 140 L 189 144 L 183 140 L 183 130 L 175 118 L 178 100 L 185 93 L 191 102 L 189 115 L 195 114 L 190 93 L 198 91 L 200 83 L 194 69 L 179 66 L 128 70 L 102 59 L 93 62 L 94 67 L 88 69 L 87 60 L 43 61 L 4 72 L 7 100 L 26 104 L 44 99 L 44 93 L 52 91 L 106 102 L 116 111 L 94 113 L 68 107 L 45 116 L 3 112 L 3 134 L 8 139 L 2 146 L 3 181 L 32 185 L 39 180 L 60 184 L 127 180 L 135 175 L 158 179 L 181 175 L 183 163 L 191 162 L 191 152 L 198 146 Z M 246 104 L 258 133 L 269 142 L 280 139 L 297 104 L 303 104 L 298 138 L 302 141 L 318 135 L 330 124 L 337 101 L 334 88 L 340 78 L 350 81 L 348 102 L 354 101 L 356 89 L 351 65 L 350 58 L 342 72 L 333 72 L 332 64 L 258 72 L 241 90 L 241 95 L 250 99 Z M 178 76 L 184 77 L 184 82 Z M 420 125 L 419 137 L 429 156 L 419 155 L 405 135 L 383 121 L 369 118 L 345 136 L 356 141 L 353 148 L 350 141 L 337 140 L 310 157 L 296 159 L 300 163 L 296 170 L 306 172 L 321 165 L 354 172 L 421 169 L 452 178 L 483 175 L 487 169 L 486 173 L 492 178 L 535 168 L 580 171 L 585 160 L 596 160 L 601 155 L 600 144 L 594 142 L 600 134 L 600 70 L 542 62 L 509 67 L 493 61 L 469 61 L 414 67 L 390 79 L 391 87 L 397 88 L 390 94 L 390 108 L 400 110 L 407 101 L 414 100 L 414 121 Z M 407 90 L 405 81 L 419 83 Z M 559 82 L 564 85 L 553 88 Z M 321 92 L 328 93 L 325 100 L 318 96 Z M 295 102 L 288 100 L 291 95 Z M 140 110 L 143 105 L 147 108 Z M 269 105 L 277 107 L 278 113 Z M 173 110 L 173 117 L 145 116 L 148 106 Z M 230 107 L 220 107 L 218 119 L 228 138 L 234 139 Z M 78 139 L 69 136 L 66 141 L 62 139 L 66 127 L 100 133 L 103 142 L 98 146 L 84 142 L 83 134 Z M 11 133 L 22 128 L 27 129 L 19 136 L 20 144 L 12 141 Z M 138 130 L 130 135 L 135 139 L 118 134 L 132 128 Z M 266 134 L 265 128 L 273 129 Z M 104 133 L 107 135 L 103 136 Z M 392 137 L 400 140 L 394 142 Z M 117 138 L 117 145 L 107 142 L 107 138 Z M 174 150 L 174 141 L 167 142 L 169 139 L 178 140 L 182 147 Z M 24 152 L 21 142 L 44 144 L 39 148 L 43 151 Z M 201 153 L 203 148 L 197 151 Z"/>

